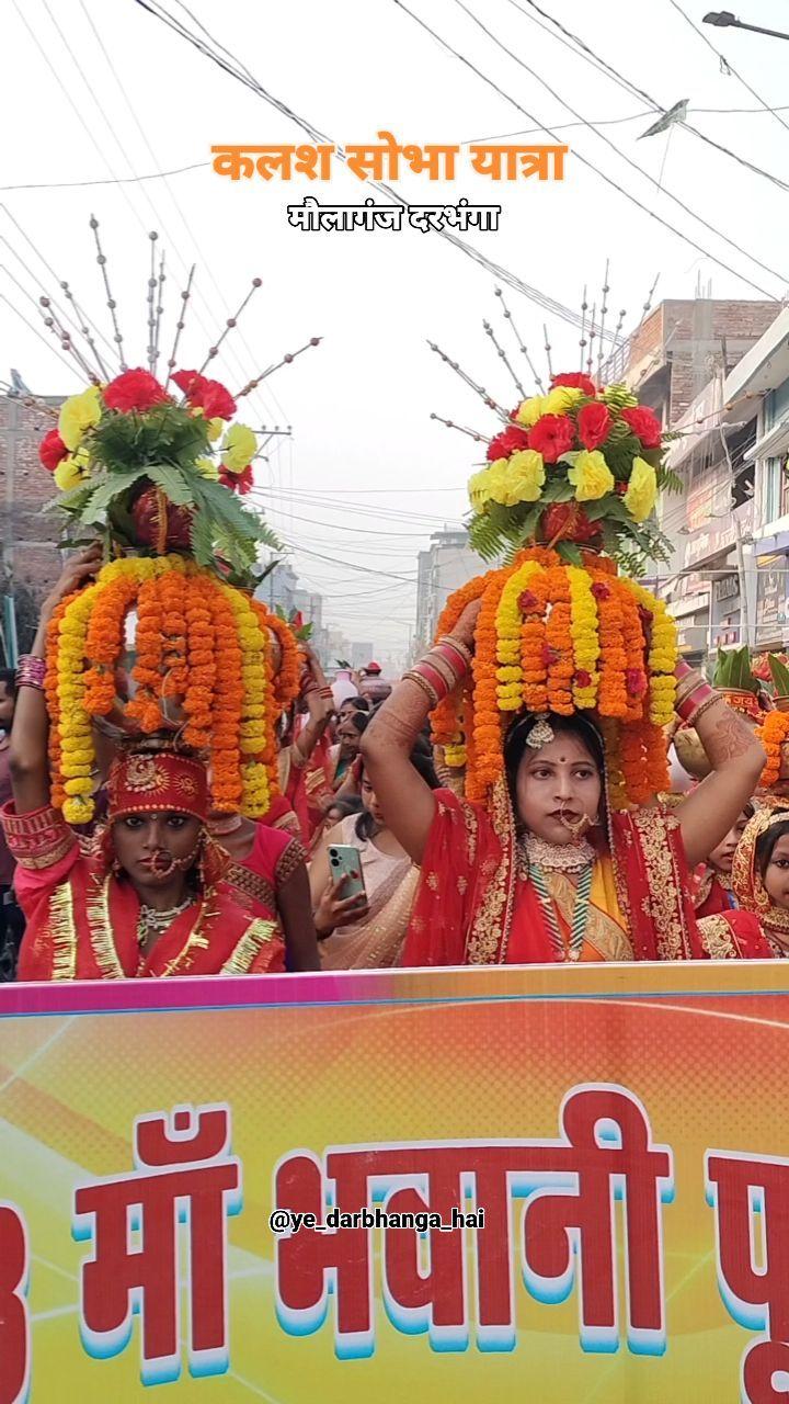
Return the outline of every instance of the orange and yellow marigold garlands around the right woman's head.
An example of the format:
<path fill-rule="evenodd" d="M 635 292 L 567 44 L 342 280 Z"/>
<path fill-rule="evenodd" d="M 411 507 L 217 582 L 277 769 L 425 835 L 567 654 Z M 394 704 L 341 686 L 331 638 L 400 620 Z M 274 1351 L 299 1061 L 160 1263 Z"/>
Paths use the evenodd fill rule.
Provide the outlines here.
<path fill-rule="evenodd" d="M 472 677 L 431 716 L 434 741 L 466 764 L 469 799 L 484 800 L 501 775 L 504 730 L 521 709 L 594 712 L 615 809 L 667 788 L 661 727 L 674 696 L 674 622 L 605 556 L 581 552 L 581 562 L 529 546 L 446 602 L 438 635 L 482 601 Z"/>

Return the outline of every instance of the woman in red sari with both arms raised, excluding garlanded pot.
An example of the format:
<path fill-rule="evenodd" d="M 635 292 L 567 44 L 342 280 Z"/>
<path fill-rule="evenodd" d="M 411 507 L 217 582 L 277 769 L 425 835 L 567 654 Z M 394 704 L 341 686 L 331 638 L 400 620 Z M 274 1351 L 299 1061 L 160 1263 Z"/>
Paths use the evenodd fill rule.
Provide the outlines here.
<path fill-rule="evenodd" d="M 462 684 L 479 602 L 383 703 L 365 769 L 387 823 L 421 868 L 403 965 L 672 960 L 764 955 L 755 934 L 705 945 L 695 866 L 758 783 L 764 750 L 701 677 L 682 671 L 685 719 L 713 767 L 677 814 L 608 804 L 605 753 L 583 715 L 521 715 L 489 804 L 437 793 L 407 764 L 428 712 Z M 444 691 L 442 691 L 444 689 Z"/>

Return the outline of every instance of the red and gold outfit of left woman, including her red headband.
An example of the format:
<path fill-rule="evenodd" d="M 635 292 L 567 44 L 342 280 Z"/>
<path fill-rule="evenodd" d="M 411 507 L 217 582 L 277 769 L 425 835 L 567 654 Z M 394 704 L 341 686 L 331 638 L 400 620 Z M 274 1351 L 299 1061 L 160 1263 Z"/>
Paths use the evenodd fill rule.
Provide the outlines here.
<path fill-rule="evenodd" d="M 114 762 L 110 821 L 126 814 L 177 812 L 205 823 L 205 767 L 170 753 L 132 754 Z M 15 890 L 27 917 L 20 980 L 124 980 L 146 976 L 263 974 L 284 970 L 284 943 L 272 921 L 250 918 L 227 892 L 206 886 L 153 945 L 139 941 L 140 900 L 110 863 L 110 845 L 90 855 L 59 810 L 0 810 L 18 863 Z"/>

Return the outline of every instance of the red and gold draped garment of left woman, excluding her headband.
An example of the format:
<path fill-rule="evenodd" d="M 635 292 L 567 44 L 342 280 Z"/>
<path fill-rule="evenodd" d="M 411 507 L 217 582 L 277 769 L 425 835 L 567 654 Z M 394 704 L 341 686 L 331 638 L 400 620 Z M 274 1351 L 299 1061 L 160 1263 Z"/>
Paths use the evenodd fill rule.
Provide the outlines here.
<path fill-rule="evenodd" d="M 1 817 L 7 833 L 11 826 L 31 831 L 37 823 L 48 826 L 37 835 L 35 865 L 29 855 L 20 856 L 15 876 L 27 918 L 18 980 L 264 974 L 285 969 L 284 943 L 274 922 L 251 918 L 219 889 L 195 897 L 143 955 L 138 942 L 140 901 L 133 887 L 122 876 L 107 875 L 97 859 L 86 858 L 56 810 L 17 817 L 8 804 Z"/>

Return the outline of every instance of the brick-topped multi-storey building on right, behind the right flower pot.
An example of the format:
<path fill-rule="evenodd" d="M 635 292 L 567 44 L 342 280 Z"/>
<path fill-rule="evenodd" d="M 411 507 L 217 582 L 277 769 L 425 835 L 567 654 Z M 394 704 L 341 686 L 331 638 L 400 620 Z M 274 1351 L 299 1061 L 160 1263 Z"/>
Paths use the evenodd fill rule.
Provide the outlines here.
<path fill-rule="evenodd" d="M 605 382 L 625 380 L 664 428 L 681 435 L 668 463 L 682 490 L 661 504 L 674 550 L 654 583 L 677 618 L 681 646 L 698 660 L 745 637 L 754 642 L 748 550 L 758 397 L 733 403 L 730 379 L 778 312 L 775 302 L 667 300 L 604 368 Z"/>

